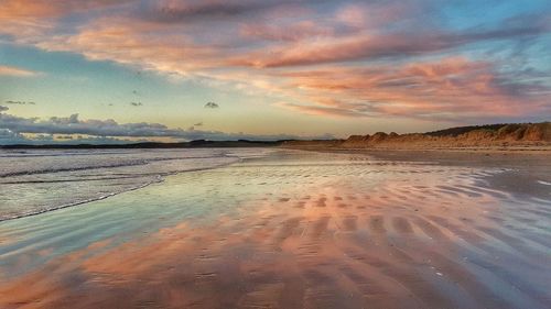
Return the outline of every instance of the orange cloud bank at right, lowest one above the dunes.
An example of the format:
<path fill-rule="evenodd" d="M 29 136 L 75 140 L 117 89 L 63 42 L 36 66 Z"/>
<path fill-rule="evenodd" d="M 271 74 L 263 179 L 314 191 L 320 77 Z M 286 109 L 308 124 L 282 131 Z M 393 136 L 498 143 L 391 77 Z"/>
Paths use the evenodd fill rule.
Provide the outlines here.
<path fill-rule="evenodd" d="M 462 57 L 403 66 L 332 67 L 281 76 L 288 78 L 292 87 L 302 89 L 303 100 L 311 102 L 281 107 L 305 113 L 450 120 L 485 114 L 514 117 L 549 110 L 547 98 L 537 91 L 525 89 L 521 96 L 515 96 L 510 89 L 523 87 L 522 84 L 499 75 L 489 63 Z"/>

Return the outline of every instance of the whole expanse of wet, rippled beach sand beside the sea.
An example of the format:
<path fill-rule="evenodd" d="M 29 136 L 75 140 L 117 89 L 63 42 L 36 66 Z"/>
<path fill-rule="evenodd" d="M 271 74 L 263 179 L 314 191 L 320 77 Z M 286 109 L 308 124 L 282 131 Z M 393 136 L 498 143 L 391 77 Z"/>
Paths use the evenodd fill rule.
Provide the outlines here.
<path fill-rule="evenodd" d="M 94 225 L 89 211 L 190 181 L 197 203 L 223 203 L 122 241 L 4 251 L 0 308 L 550 308 L 547 159 L 447 159 L 281 151 L 51 213 Z M 29 220 L 0 225 L 0 244 L 40 233 Z"/>

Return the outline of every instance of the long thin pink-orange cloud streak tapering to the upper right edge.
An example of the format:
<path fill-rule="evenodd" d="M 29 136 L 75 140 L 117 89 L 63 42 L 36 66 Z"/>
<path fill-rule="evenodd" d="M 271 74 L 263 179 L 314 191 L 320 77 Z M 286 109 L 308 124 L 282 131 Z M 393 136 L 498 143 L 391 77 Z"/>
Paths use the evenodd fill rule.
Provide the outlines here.
<path fill-rule="evenodd" d="M 527 25 L 507 30 L 456 34 L 440 32 L 422 34 L 408 32 L 359 33 L 342 38 L 299 42 L 294 45 L 252 51 L 235 58 L 231 64 L 252 67 L 289 67 L 352 60 L 408 58 L 445 52 L 484 41 L 532 36 L 545 31 L 544 26 Z"/>

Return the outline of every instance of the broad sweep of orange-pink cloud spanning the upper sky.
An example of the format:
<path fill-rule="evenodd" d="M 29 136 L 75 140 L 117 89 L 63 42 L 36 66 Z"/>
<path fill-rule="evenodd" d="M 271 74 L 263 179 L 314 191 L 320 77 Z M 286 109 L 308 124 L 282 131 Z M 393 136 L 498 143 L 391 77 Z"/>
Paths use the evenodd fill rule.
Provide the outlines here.
<path fill-rule="evenodd" d="M 547 16 L 454 32 L 423 27 L 431 21 L 412 13 L 423 10 L 415 0 L 335 2 L 326 11 L 309 1 L 127 2 L 8 0 L 0 33 L 45 51 L 256 91 L 309 114 L 461 119 L 550 109 L 549 73 L 507 73 L 496 58 L 469 59 L 460 49 L 533 38 L 549 31 Z"/>

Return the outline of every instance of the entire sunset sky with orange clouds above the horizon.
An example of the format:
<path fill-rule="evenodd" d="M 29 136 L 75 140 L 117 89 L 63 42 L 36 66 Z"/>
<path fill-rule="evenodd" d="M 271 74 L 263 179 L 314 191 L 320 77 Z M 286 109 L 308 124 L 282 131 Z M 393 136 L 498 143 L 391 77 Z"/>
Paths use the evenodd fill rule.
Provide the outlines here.
<path fill-rule="evenodd" d="M 0 0 L 0 144 L 551 120 L 549 0 Z"/>

